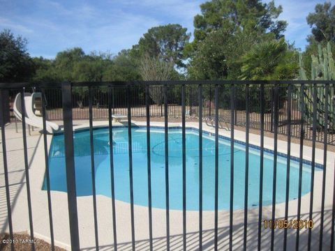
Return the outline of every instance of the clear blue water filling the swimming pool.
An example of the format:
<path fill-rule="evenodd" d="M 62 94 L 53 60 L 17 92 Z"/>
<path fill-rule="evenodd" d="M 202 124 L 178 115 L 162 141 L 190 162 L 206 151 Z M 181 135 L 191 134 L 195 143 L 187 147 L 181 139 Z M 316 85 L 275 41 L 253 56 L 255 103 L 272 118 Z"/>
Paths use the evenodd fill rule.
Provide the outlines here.
<path fill-rule="evenodd" d="M 182 209 L 182 151 L 181 129 L 169 129 L 169 182 L 170 208 Z M 147 191 L 147 131 L 145 127 L 132 129 L 133 140 L 133 187 L 134 202 L 148 205 Z M 128 128 L 113 129 L 113 154 L 115 199 L 130 201 Z M 195 130 L 186 130 L 186 203 L 187 210 L 198 210 L 199 205 L 199 135 Z M 89 130 L 75 132 L 75 176 L 77 196 L 92 195 L 91 155 Z M 152 206 L 165 208 L 165 144 L 163 128 L 151 128 L 151 183 Z M 214 136 L 203 136 L 203 209 L 214 210 Z M 218 208 L 228 209 L 230 201 L 230 140 L 219 139 L 218 150 Z M 94 158 L 96 170 L 96 193 L 111 197 L 110 146 L 108 128 L 94 130 Z M 245 146 L 234 144 L 234 209 L 244 207 Z M 260 184 L 260 151 L 251 148 L 249 154 L 248 207 L 258 206 Z M 278 156 L 276 203 L 285 201 L 286 158 Z M 263 205 L 272 203 L 274 160 L 265 153 L 263 179 Z M 299 162 L 291 160 L 290 200 L 297 199 Z M 315 171 L 320 171 L 315 168 Z M 311 165 L 304 164 L 302 194 L 310 190 Z M 50 149 L 51 190 L 66 192 L 64 159 L 64 135 L 54 135 Z M 46 189 L 45 182 L 43 190 Z"/>

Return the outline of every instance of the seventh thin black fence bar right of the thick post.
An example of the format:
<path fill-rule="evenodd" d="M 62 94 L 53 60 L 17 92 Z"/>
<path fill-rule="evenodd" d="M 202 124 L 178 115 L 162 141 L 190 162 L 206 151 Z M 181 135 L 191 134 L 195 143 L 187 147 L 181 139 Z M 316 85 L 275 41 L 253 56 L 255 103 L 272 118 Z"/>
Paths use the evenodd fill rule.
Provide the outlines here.
<path fill-rule="evenodd" d="M 202 85 L 198 88 L 199 103 L 199 250 L 202 250 Z"/>

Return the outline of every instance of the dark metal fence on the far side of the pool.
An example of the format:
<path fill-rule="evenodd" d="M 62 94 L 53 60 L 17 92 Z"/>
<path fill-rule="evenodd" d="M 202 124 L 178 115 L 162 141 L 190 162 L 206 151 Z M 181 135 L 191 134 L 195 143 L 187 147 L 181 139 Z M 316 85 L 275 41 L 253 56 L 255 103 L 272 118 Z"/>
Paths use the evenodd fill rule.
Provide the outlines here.
<path fill-rule="evenodd" d="M 229 82 L 228 82 L 229 83 Z M 50 85 L 52 86 L 52 84 Z M 334 93 L 335 86 L 329 85 L 329 89 Z M 214 116 L 215 104 L 214 104 L 214 84 L 206 84 L 203 91 L 203 118 Z M 316 87 L 318 93 L 325 91 L 324 84 L 318 84 Z M 332 91 L 333 90 L 333 91 Z M 27 88 L 26 91 L 38 91 L 38 88 Z M 108 89 L 106 86 L 92 86 L 91 88 L 93 95 L 93 118 L 99 120 L 108 119 Z M 18 90 L 10 91 L 10 106 L 13 104 Z M 163 118 L 163 86 L 152 85 L 149 89 L 150 92 L 150 116 L 156 118 Z M 304 84 L 304 92 L 309 93 L 313 96 L 313 84 Z M 72 93 L 72 105 L 73 105 L 73 119 L 84 120 L 89 119 L 89 95 L 88 88 L 82 86 L 76 86 Z M 145 118 L 145 97 L 144 87 L 140 85 L 133 85 L 130 90 L 130 97 L 126 92 L 124 86 L 113 86 L 112 87 L 112 113 L 113 114 L 127 114 L 127 100 L 131 102 L 132 116 L 134 118 Z M 219 118 L 221 121 L 229 126 L 230 121 L 230 89 L 227 86 L 220 86 L 219 89 Z M 325 96 L 320 96 L 325 98 Z M 50 88 L 45 90 L 45 98 L 47 103 L 47 119 L 52 121 L 61 121 L 63 119 L 62 112 L 62 99 L 60 88 Z M 252 129 L 260 129 L 260 84 L 253 82 L 250 86 L 250 119 L 249 127 Z M 304 133 L 304 139 L 312 139 L 312 119 L 310 116 L 301 117 L 301 86 L 299 83 L 294 84 L 292 88 L 292 104 L 291 104 L 291 132 L 292 137 L 300 137 L 300 133 Z M 198 104 L 198 89 L 193 86 L 186 86 L 186 119 L 198 118 L 199 117 L 199 104 Z M 181 117 L 181 86 L 172 84 L 168 86 L 168 116 L 170 119 Z M 321 101 L 321 100 L 320 100 Z M 334 107 L 335 96 L 332 96 L 328 100 L 329 107 Z M 312 102 L 306 102 L 306 105 L 311 108 Z M 265 84 L 265 125 L 264 129 L 267 132 L 274 132 L 274 85 Z M 245 86 L 236 86 L 236 98 L 235 98 L 235 110 L 234 110 L 234 125 L 235 126 L 246 126 L 246 92 Z M 318 112 L 318 120 L 322 120 L 324 112 Z M 301 118 L 304 119 L 304 130 L 301 131 Z M 15 116 L 11 116 L 11 120 L 15 121 Z M 331 121 L 332 122 L 332 121 Z M 282 135 L 288 135 L 288 84 L 281 84 L 278 86 L 278 133 Z M 334 126 L 330 126 L 334 128 Z M 335 132 L 329 130 L 327 135 L 328 143 L 335 144 Z M 323 142 L 323 130 L 318 128 L 316 141 Z"/>

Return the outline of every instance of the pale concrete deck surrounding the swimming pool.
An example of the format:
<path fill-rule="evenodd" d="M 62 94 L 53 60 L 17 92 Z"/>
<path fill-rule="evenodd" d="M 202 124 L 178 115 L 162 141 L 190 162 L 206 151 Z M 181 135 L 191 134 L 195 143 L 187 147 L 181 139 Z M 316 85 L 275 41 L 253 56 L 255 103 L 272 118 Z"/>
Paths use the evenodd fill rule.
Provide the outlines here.
<path fill-rule="evenodd" d="M 88 121 L 74 121 L 82 124 L 75 129 L 87 127 Z M 144 126 L 145 122 L 133 121 L 135 125 Z M 107 126 L 107 121 L 95 122 L 94 126 Z M 121 125 L 121 123 L 114 123 Z M 180 126 L 181 123 L 169 123 L 169 126 Z M 151 126 L 164 126 L 162 122 L 151 122 Z M 186 122 L 186 126 L 198 128 L 198 123 Z M 214 128 L 203 123 L 203 130 L 214 132 Z M 230 137 L 230 131 L 219 130 L 219 134 Z M 250 134 L 250 143 L 260 145 L 260 136 Z M 234 139 L 245 141 L 245 132 L 235 130 Z M 50 147 L 52 135 L 47 135 L 48 147 Z M 43 135 L 38 131 L 27 134 L 27 153 L 29 161 L 29 174 L 31 182 L 31 205 L 34 220 L 34 234 L 50 242 L 49 215 L 47 208 L 47 192 L 41 190 L 45 174 L 45 157 Z M 10 181 L 10 199 L 12 205 L 13 230 L 29 231 L 29 218 L 27 207 L 27 190 L 24 174 L 24 158 L 22 144 L 22 130 L 15 132 L 13 125 L 6 127 L 6 146 L 8 158 L 8 176 Z M 273 149 L 274 140 L 265 137 L 265 148 Z M 2 148 L 1 148 L 2 151 Z M 287 142 L 278 140 L 278 152 L 287 152 Z M 304 159 L 311 160 L 312 148 L 304 146 Z M 291 144 L 291 155 L 299 158 L 299 145 Z M 8 231 L 8 219 L 6 210 L 6 191 L 3 175 L 3 156 L 0 157 L 0 208 L 1 208 L 1 232 Z M 332 217 L 332 197 L 334 184 L 335 153 L 327 152 L 327 177 L 325 196 L 325 221 L 323 246 L 329 250 L 330 224 Z M 322 164 L 323 150 L 315 149 L 315 162 Z M 133 168 L 136 168 L 134 163 Z M 266 178 L 266 177 L 265 177 Z M 98 181 L 96 181 L 98 182 Z M 320 208 L 322 191 L 322 172 L 315 172 L 315 190 L 313 201 L 314 228 L 312 231 L 312 250 L 318 247 L 320 232 Z M 56 245 L 70 249 L 70 233 L 68 227 L 68 203 L 66 192 L 52 191 L 52 216 L 54 223 L 54 239 Z M 301 218 L 308 219 L 310 194 L 301 198 Z M 95 250 L 94 241 L 94 217 L 92 196 L 77 197 L 78 222 L 80 231 L 80 247 L 82 250 Z M 109 197 L 97 195 L 98 238 L 101 250 L 113 249 L 112 233 L 112 203 Z M 135 211 L 135 240 L 136 250 L 149 250 L 148 210 L 145 206 L 134 206 Z M 117 243 L 119 250 L 131 250 L 131 213 L 130 204 L 124 201 L 116 201 L 117 213 Z M 276 204 L 276 218 L 283 218 L 285 203 Z M 153 208 L 153 237 L 154 250 L 165 250 L 165 210 Z M 289 218 L 297 218 L 297 200 L 290 201 Z M 271 206 L 263 207 L 262 220 L 271 219 Z M 198 247 L 198 222 L 197 211 L 187 212 L 187 249 L 197 250 Z M 234 211 L 233 249 L 240 250 L 243 246 L 244 211 Z M 258 207 L 248 209 L 248 250 L 257 248 L 258 239 Z M 275 230 L 275 248 L 283 247 L 283 229 Z M 296 229 L 288 229 L 288 250 L 295 248 Z M 182 250 L 183 248 L 182 211 L 170 211 L 170 248 Z M 262 225 L 262 249 L 268 250 L 271 230 Z M 219 250 L 228 250 L 229 243 L 229 211 L 218 213 L 218 244 Z M 308 230 L 300 231 L 301 250 L 306 249 Z M 203 212 L 203 245 L 204 250 L 212 250 L 214 247 L 214 212 Z"/>

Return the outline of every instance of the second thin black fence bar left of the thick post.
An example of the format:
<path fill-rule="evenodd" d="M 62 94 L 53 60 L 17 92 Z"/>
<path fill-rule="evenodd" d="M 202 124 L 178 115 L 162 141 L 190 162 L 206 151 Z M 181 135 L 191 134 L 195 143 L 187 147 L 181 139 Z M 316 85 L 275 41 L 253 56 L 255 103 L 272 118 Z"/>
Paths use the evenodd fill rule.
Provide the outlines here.
<path fill-rule="evenodd" d="M 22 137 L 23 137 L 24 169 L 25 169 L 25 174 L 26 174 L 29 228 L 30 228 L 30 238 L 31 240 L 34 240 L 33 213 L 31 210 L 29 162 L 28 162 L 28 153 L 27 153 L 26 108 L 25 108 L 25 103 L 24 103 L 24 88 L 21 91 L 21 109 L 22 109 Z M 31 250 L 35 250 L 34 241 L 31 243 Z"/>

